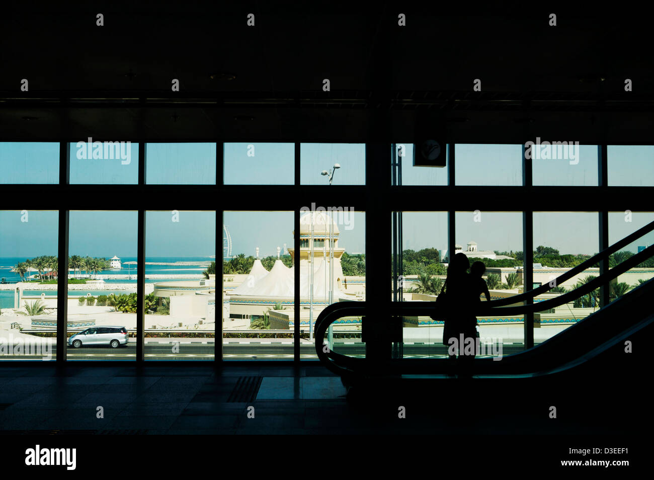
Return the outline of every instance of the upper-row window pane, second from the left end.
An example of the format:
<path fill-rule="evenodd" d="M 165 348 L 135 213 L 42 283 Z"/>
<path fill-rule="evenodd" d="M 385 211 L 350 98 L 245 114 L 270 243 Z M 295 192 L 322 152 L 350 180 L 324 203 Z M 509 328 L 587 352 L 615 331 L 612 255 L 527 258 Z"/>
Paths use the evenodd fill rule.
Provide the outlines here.
<path fill-rule="evenodd" d="M 137 184 L 139 144 L 87 139 L 69 144 L 71 184 Z"/>

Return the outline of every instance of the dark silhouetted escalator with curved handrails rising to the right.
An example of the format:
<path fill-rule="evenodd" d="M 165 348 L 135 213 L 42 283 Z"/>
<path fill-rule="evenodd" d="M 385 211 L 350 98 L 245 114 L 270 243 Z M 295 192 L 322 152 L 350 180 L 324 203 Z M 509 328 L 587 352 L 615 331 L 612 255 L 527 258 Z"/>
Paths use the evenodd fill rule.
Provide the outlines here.
<path fill-rule="evenodd" d="M 553 284 L 560 285 L 600 262 L 606 262 L 608 265 L 611 254 L 653 230 L 654 222 L 651 222 L 579 266 L 560 275 Z M 604 271 L 602 275 L 583 286 L 578 286 L 556 298 L 534 302 L 536 296 L 544 294 L 552 288 L 549 284 L 544 284 L 517 296 L 480 302 L 475 315 L 477 317 L 488 315 L 504 317 L 553 309 L 581 298 L 598 288 L 610 288 L 610 282 L 613 279 L 617 279 L 619 275 L 652 256 L 654 256 L 654 245 L 634 254 L 608 271 Z M 578 368 L 603 352 L 623 344 L 634 335 L 648 329 L 654 321 L 654 309 L 651 307 L 652 298 L 654 298 L 654 281 L 650 280 L 531 349 L 503 356 L 502 361 L 496 361 L 497 359 L 493 358 L 475 358 L 472 374 L 474 377 L 488 378 L 543 377 Z M 426 303 L 430 303 L 430 305 L 426 305 Z M 516 303 L 519 305 L 507 306 Z M 380 312 L 383 312 L 381 316 Z M 315 347 L 318 358 L 326 368 L 340 375 L 347 383 L 364 378 L 452 377 L 446 375 L 449 373 L 449 366 L 444 358 L 375 358 L 374 361 L 371 361 L 368 358 L 356 358 L 331 351 L 324 343 L 328 326 L 342 317 L 368 316 L 368 327 L 364 323 L 362 328 L 363 339 L 366 341 L 366 337 L 371 338 L 370 334 L 366 335 L 366 328 L 370 328 L 370 324 L 373 324 L 375 318 L 384 321 L 387 330 L 397 332 L 399 326 L 401 332 L 402 320 L 405 317 L 434 316 L 435 314 L 438 317 L 435 302 L 388 301 L 384 305 L 369 305 L 368 302 L 356 301 L 334 303 L 320 313 L 315 325 Z M 379 331 L 379 324 L 377 330 Z M 385 338 L 390 337 L 392 335 L 387 335 Z M 393 341 L 398 341 L 397 334 Z"/>

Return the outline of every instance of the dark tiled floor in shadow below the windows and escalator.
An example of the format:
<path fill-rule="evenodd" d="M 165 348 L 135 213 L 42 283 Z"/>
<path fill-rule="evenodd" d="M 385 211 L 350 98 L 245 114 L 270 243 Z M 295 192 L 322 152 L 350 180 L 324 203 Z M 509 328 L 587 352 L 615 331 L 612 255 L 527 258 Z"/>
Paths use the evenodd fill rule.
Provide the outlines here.
<path fill-rule="evenodd" d="M 378 386 L 348 402 L 339 377 L 317 364 L 297 369 L 251 363 L 222 369 L 5 364 L 0 366 L 0 433 L 604 433 L 617 432 L 624 423 L 598 423 L 586 408 L 571 415 L 570 409 L 585 400 L 569 390 L 543 391 L 539 385 L 517 395 L 516 388 L 479 379 L 432 381 L 413 390 Z M 553 402 L 560 406 L 558 421 L 547 415 Z"/>

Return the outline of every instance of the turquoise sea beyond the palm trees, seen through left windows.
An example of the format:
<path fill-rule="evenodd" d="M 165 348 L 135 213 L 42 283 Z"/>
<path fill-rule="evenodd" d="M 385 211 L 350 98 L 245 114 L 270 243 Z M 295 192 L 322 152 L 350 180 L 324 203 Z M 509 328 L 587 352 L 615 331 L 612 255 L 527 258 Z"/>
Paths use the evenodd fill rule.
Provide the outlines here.
<path fill-rule="evenodd" d="M 11 269 L 18 264 L 18 262 L 24 262 L 27 258 L 35 258 L 35 256 L 29 257 L 0 257 L 0 279 L 5 279 L 7 282 L 18 282 L 20 281 L 20 275 L 11 271 Z M 105 258 L 109 259 L 111 256 Z M 136 266 L 126 266 L 125 262 L 136 262 L 136 257 L 121 257 L 120 262 L 122 264 L 122 269 L 117 270 L 103 270 L 98 272 L 98 275 L 136 275 Z M 173 263 L 173 262 L 203 262 L 202 265 L 146 265 L 145 266 L 145 275 L 202 275 L 202 272 L 207 269 L 209 264 L 213 262 L 214 258 L 209 257 L 146 257 L 146 262 L 154 263 Z M 35 272 L 32 272 L 33 275 Z M 82 271 L 82 273 L 86 273 Z M 146 283 L 162 283 L 162 282 L 174 282 L 174 281 L 184 281 L 186 279 L 179 278 L 157 278 L 157 279 L 145 279 Z M 111 283 L 133 283 L 134 288 L 136 289 L 136 279 L 111 279 L 105 280 L 105 284 Z M 135 291 L 135 290 L 134 290 Z M 56 290 L 24 290 L 24 296 L 41 296 L 41 292 L 44 292 L 46 295 L 56 295 Z M 86 295 L 87 293 L 92 294 L 93 296 L 97 295 L 109 295 L 110 293 L 120 294 L 128 293 L 127 290 L 70 290 L 70 296 L 80 296 Z M 14 307 L 14 292 L 12 290 L 0 290 L 0 309 L 3 308 L 13 308 Z"/>

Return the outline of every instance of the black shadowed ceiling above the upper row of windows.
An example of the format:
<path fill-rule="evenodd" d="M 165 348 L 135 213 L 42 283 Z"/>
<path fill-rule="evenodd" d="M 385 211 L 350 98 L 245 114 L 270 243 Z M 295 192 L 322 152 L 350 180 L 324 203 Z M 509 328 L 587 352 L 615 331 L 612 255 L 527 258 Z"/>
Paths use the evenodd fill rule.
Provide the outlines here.
<path fill-rule="evenodd" d="M 651 143 L 643 12 L 434 4 L 5 3 L 0 139 Z"/>

